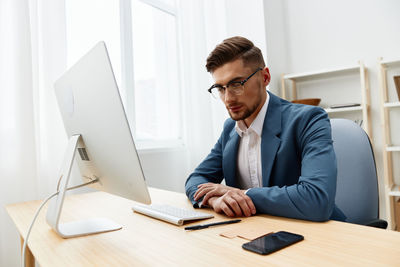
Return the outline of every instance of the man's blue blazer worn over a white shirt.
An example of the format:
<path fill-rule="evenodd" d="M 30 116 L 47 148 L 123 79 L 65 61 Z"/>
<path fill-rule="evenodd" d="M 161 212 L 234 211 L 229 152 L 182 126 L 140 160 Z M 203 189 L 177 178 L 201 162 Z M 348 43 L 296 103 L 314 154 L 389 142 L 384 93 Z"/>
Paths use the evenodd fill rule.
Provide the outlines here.
<path fill-rule="evenodd" d="M 335 205 L 336 157 L 328 115 L 319 107 L 292 104 L 272 93 L 261 137 L 263 187 L 247 195 L 257 213 L 296 219 L 345 220 Z M 186 181 L 186 195 L 203 183 L 238 187 L 235 121 L 227 119 L 210 154 Z"/>

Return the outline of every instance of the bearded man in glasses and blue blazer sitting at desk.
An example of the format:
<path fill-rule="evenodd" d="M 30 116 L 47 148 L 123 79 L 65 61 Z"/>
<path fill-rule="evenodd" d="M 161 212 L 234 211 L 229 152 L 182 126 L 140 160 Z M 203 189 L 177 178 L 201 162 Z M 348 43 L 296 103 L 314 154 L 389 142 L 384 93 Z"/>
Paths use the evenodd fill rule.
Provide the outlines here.
<path fill-rule="evenodd" d="M 336 158 L 325 111 L 267 92 L 269 70 L 246 38 L 224 40 L 206 68 L 215 81 L 208 91 L 223 101 L 231 119 L 186 181 L 193 205 L 231 217 L 345 220 L 334 203 Z"/>

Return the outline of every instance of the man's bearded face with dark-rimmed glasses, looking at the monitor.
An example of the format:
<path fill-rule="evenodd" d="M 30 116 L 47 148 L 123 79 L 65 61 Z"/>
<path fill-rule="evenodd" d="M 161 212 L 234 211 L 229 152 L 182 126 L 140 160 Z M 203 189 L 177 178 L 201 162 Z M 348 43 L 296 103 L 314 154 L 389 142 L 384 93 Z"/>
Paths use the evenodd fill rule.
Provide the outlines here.
<path fill-rule="evenodd" d="M 244 66 L 242 59 L 237 59 L 214 70 L 212 76 L 215 84 L 226 85 L 232 81 L 243 81 L 256 69 L 256 67 Z M 268 68 L 264 68 L 244 84 L 242 95 L 234 95 L 229 90 L 225 90 L 222 101 L 233 120 L 244 120 L 246 125 L 250 126 L 265 102 L 265 87 L 269 81 Z"/>

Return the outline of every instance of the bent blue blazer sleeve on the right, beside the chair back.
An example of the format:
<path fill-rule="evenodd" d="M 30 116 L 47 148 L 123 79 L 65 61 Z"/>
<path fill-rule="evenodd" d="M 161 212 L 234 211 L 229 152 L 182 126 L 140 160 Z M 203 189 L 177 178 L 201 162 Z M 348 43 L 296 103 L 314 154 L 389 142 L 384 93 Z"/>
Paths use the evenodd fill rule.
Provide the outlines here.
<path fill-rule="evenodd" d="M 247 195 L 259 213 L 326 221 L 335 206 L 337 177 L 330 121 L 321 109 L 304 117 L 295 122 L 301 152 L 298 183 L 283 187 L 252 188 Z"/>

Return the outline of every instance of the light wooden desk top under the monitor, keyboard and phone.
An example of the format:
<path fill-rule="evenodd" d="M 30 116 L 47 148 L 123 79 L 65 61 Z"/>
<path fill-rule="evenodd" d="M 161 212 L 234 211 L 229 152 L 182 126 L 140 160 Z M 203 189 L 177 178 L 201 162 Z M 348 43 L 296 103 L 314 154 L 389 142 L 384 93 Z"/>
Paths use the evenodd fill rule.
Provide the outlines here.
<path fill-rule="evenodd" d="M 150 193 L 153 203 L 191 208 L 184 194 L 159 189 L 151 189 Z M 40 203 L 31 201 L 7 206 L 22 236 Z M 244 218 L 238 224 L 187 232 L 183 226 L 133 213 L 132 203 L 103 192 L 69 196 L 63 210 L 65 221 L 108 217 L 122 224 L 123 229 L 62 239 L 45 222 L 44 210 L 33 227 L 30 251 L 43 267 L 400 265 L 399 232 L 336 221 L 314 223 L 267 215 Z M 207 223 L 223 219 L 226 217 L 216 215 Z M 221 232 L 237 227 L 262 228 L 266 232 L 284 230 L 302 234 L 305 240 L 261 256 L 243 250 L 244 239 L 219 236 Z"/>

